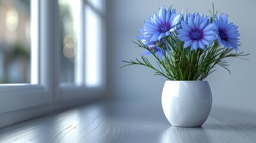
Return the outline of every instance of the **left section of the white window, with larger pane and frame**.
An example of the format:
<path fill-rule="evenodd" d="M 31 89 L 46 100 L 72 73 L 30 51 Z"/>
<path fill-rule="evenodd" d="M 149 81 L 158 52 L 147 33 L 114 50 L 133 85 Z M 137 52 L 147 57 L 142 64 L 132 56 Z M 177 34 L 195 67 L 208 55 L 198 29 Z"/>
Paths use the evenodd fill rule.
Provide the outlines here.
<path fill-rule="evenodd" d="M 11 67 L 8 73 L 11 78 L 4 81 L 13 84 L 0 86 L 0 114 L 48 104 L 52 98 L 51 74 L 48 71 L 50 64 L 47 63 L 48 48 L 42 48 L 47 46 L 41 44 L 48 42 L 47 35 L 41 32 L 47 23 L 41 21 L 39 24 L 39 18 L 45 16 L 44 11 L 39 13 L 39 10 L 42 10 L 39 1 L 2 0 L 1 6 L 4 7 L 4 4 L 9 5 L 5 20 L 8 23 L 7 29 L 13 32 L 12 35 L 16 35 L 10 45 L 17 46 L 13 48 L 14 60 L 8 61 L 7 65 L 7 70 L 8 66 Z M 6 32 L 9 32 L 8 30 Z"/>

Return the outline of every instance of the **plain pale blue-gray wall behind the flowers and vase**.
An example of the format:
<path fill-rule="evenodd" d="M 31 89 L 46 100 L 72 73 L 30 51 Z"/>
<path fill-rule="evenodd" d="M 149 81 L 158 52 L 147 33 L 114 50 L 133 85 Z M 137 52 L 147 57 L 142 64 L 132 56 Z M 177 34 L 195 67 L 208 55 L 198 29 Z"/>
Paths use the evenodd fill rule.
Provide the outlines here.
<path fill-rule="evenodd" d="M 110 94 L 122 98 L 154 100 L 161 102 L 162 87 L 165 79 L 153 76 L 153 70 L 141 66 L 131 66 L 119 69 L 124 65 L 122 60 L 140 57 L 143 52 L 135 48 L 138 29 L 143 27 L 144 21 L 153 14 L 158 13 L 161 6 L 169 7 L 171 4 L 181 12 L 189 10 L 209 14 L 212 3 L 215 9 L 227 13 L 229 21 L 239 26 L 240 51 L 250 53 L 246 58 L 249 61 L 230 58 L 230 75 L 226 70 L 217 67 L 217 71 L 208 77 L 211 85 L 214 106 L 226 106 L 238 109 L 254 110 L 256 107 L 256 46 L 255 42 L 255 6 L 256 1 L 246 0 L 109 0 L 107 1 L 107 52 L 108 81 Z M 255 108 L 256 110 L 256 108 Z"/>

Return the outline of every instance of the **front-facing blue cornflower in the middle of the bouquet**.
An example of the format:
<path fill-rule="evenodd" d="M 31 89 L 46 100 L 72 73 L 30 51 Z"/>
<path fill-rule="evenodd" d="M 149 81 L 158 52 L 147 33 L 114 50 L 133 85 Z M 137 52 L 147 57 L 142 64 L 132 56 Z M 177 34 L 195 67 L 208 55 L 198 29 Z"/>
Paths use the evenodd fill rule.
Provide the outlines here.
<path fill-rule="evenodd" d="M 187 15 L 187 23 L 181 21 L 181 27 L 182 29 L 178 29 L 177 32 L 178 38 L 185 42 L 184 48 L 191 45 L 191 50 L 197 50 L 198 47 L 205 50 L 205 45 L 211 45 L 216 39 L 209 17 L 204 17 L 203 14 Z"/>

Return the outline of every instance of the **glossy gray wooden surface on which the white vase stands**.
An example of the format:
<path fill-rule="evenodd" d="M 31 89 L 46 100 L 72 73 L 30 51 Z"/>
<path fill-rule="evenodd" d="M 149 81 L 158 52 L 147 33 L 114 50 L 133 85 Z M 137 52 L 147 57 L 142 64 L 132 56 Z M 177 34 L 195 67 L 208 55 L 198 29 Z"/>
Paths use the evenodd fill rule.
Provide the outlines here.
<path fill-rule="evenodd" d="M 256 142 L 256 115 L 212 108 L 201 128 L 177 128 L 160 106 L 104 102 L 8 126 L 0 142 Z"/>

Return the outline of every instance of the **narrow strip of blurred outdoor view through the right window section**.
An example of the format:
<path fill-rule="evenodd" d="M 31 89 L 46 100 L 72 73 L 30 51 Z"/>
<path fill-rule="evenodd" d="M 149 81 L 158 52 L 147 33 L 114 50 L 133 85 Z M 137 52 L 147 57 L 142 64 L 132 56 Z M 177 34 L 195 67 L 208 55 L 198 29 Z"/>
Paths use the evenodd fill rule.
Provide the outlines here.
<path fill-rule="evenodd" d="M 75 8 L 79 0 L 58 0 L 60 9 L 60 27 L 61 27 L 61 66 L 60 82 L 74 82 L 76 37 L 75 37 Z M 75 7 L 76 6 L 76 7 Z"/>

